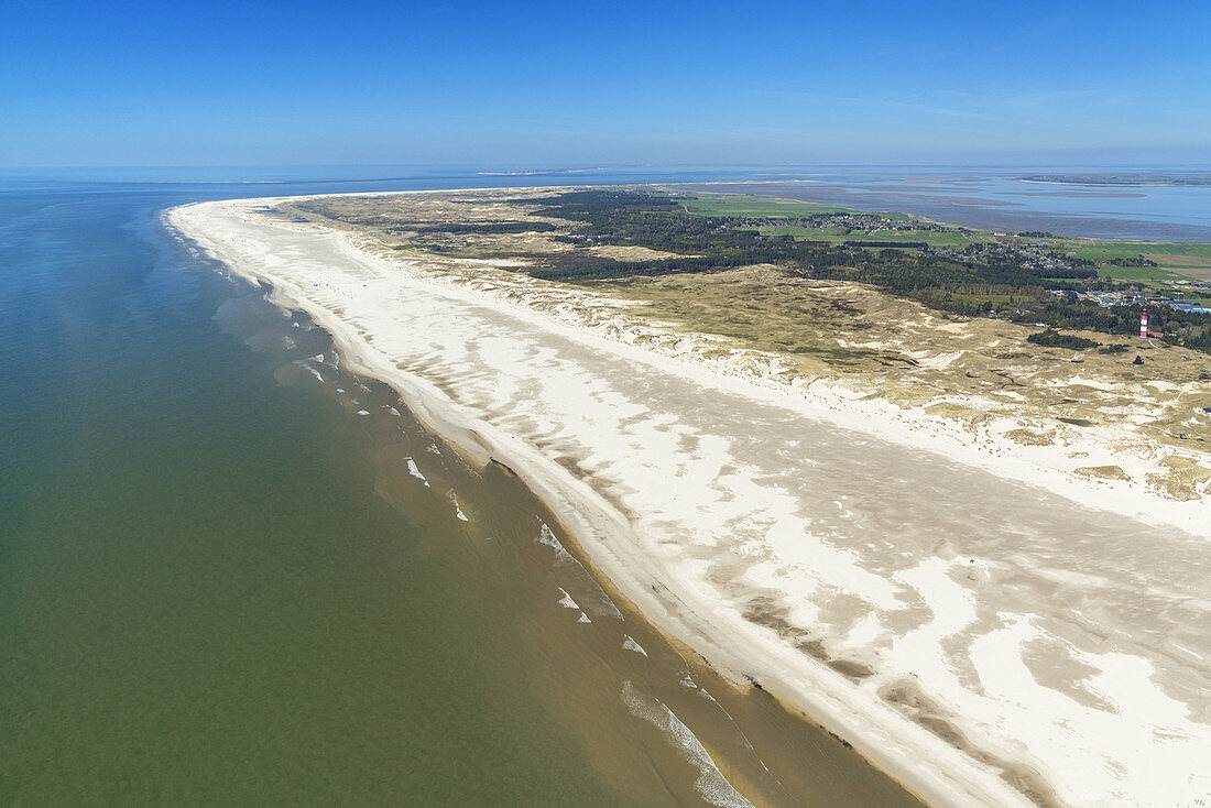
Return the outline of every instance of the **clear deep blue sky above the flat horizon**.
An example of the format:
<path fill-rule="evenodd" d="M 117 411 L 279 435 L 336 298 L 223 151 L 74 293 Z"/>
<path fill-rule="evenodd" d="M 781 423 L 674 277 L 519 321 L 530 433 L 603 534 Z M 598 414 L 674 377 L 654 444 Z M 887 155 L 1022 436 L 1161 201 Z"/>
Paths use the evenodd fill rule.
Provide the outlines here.
<path fill-rule="evenodd" d="M 0 4 L 0 166 L 1211 164 L 1211 2 Z"/>

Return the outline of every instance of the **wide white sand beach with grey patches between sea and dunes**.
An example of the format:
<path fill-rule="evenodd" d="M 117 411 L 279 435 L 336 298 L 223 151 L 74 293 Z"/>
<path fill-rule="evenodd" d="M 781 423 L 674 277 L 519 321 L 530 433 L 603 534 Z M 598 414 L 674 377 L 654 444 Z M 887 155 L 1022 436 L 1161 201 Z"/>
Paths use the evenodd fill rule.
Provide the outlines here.
<path fill-rule="evenodd" d="M 557 285 L 265 217 L 173 227 L 310 315 L 474 463 L 516 471 L 670 637 L 939 806 L 1211 793 L 1211 505 L 1066 472 Z M 552 303 L 553 302 L 553 303 Z M 541 305 L 539 305 L 541 303 Z M 702 350 L 702 346 L 711 350 Z M 1086 465 L 1130 464 L 1087 430 Z M 1071 465 L 1071 463 L 1069 463 Z"/>

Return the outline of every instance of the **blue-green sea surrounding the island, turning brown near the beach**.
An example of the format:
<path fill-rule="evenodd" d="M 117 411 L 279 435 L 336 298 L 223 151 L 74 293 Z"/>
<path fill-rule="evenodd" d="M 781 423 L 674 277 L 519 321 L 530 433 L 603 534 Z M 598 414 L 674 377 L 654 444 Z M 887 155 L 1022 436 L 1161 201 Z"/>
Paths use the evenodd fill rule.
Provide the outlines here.
<path fill-rule="evenodd" d="M 977 227 L 1211 240 L 1190 196 L 1211 189 L 808 173 L 0 176 L 0 804 L 918 804 L 665 641 L 524 481 L 469 468 L 163 223 L 247 196 L 777 182 Z"/>

